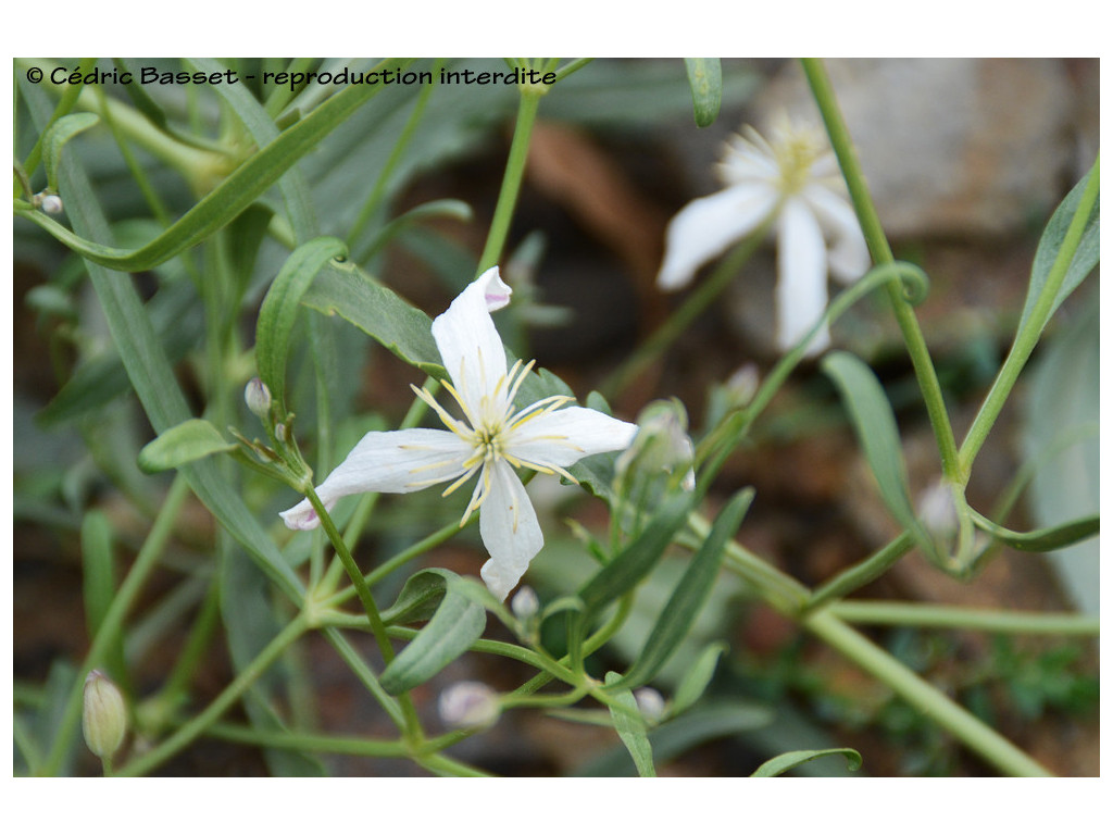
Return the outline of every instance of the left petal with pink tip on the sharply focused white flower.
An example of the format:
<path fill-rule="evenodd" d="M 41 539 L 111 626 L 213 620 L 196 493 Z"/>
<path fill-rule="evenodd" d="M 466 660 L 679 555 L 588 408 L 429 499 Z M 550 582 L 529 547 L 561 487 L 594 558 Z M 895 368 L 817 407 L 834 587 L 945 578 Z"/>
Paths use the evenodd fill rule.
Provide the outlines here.
<path fill-rule="evenodd" d="M 463 439 L 437 429 L 368 432 L 317 488 L 317 497 L 332 510 L 353 493 L 411 493 L 460 478 L 471 453 Z M 298 531 L 321 523 L 308 499 L 279 515 L 287 528 Z"/>

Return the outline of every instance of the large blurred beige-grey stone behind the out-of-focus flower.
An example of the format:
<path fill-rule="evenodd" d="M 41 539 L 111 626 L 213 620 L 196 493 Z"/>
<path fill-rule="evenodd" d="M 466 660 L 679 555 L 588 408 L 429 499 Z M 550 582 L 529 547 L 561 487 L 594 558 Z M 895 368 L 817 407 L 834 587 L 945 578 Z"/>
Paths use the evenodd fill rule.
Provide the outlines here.
<path fill-rule="evenodd" d="M 1076 179 L 1086 145 L 1076 127 L 1096 98 L 1089 102 L 1092 90 L 1072 84 L 1060 59 L 833 59 L 827 68 L 889 235 L 1016 232 L 1045 219 Z M 782 109 L 818 118 L 797 63 L 755 101 L 759 129 Z"/>

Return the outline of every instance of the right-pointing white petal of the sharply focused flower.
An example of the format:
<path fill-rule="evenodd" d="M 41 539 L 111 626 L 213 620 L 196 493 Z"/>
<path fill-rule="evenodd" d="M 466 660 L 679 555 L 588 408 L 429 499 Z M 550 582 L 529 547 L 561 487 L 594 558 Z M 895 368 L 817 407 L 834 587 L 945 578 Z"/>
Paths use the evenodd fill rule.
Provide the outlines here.
<path fill-rule="evenodd" d="M 569 406 L 525 421 L 510 435 L 506 452 L 542 468 L 568 466 L 584 455 L 624 450 L 637 433 L 633 423 Z"/>

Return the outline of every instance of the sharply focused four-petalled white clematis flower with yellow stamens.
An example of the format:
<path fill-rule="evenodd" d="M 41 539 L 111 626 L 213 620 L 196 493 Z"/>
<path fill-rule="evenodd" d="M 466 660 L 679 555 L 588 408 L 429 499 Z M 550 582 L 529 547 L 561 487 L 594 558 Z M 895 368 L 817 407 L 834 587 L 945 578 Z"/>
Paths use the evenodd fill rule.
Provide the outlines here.
<path fill-rule="evenodd" d="M 543 542 L 514 470 L 526 468 L 575 481 L 565 468 L 585 455 L 624 449 L 638 431 L 632 423 L 593 409 L 562 409 L 573 400 L 563 395 L 515 409 L 514 396 L 533 363 L 519 361 L 506 370 L 506 352 L 491 320 L 491 312 L 505 307 L 510 294 L 499 268 L 492 267 L 433 321 L 433 338 L 452 377 L 444 387 L 464 420 L 449 414 L 424 389 L 412 386 L 447 429 L 368 432 L 317 488 L 321 501 L 332 510 L 352 493 L 410 493 L 451 482 L 443 493 L 447 495 L 479 474 L 460 523 L 479 509 L 480 534 L 491 554 L 480 573 L 500 600 L 518 584 Z M 282 518 L 295 530 L 319 523 L 308 499 Z"/>

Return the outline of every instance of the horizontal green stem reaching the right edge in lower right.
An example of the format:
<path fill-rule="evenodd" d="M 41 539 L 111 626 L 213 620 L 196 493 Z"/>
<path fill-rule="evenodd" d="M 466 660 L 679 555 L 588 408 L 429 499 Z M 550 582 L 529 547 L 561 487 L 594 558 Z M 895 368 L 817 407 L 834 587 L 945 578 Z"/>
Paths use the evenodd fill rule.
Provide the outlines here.
<path fill-rule="evenodd" d="M 843 620 L 856 623 L 976 629 L 986 632 L 1028 635 L 1097 636 L 1101 631 L 1097 618 L 1074 612 L 986 611 L 961 606 L 875 600 L 844 600 L 833 603 L 830 611 Z"/>

